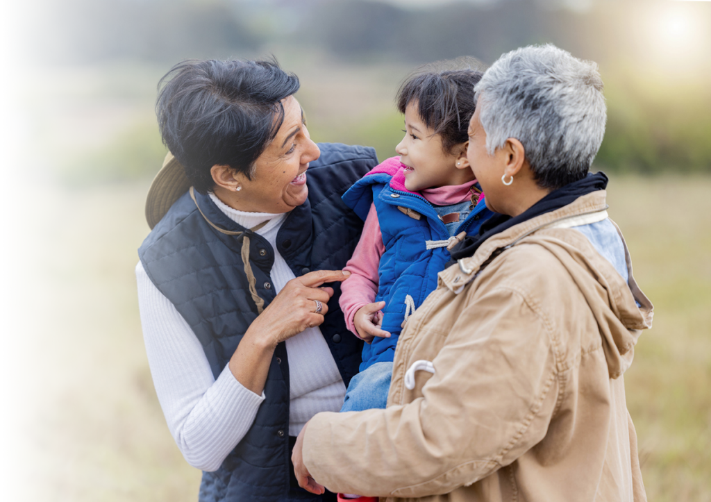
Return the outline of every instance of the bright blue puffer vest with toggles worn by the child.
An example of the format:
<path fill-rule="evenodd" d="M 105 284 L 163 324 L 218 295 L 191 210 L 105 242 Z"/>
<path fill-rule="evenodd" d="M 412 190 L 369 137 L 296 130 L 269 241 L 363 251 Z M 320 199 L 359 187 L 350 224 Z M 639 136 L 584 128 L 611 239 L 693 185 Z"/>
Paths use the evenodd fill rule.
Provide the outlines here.
<path fill-rule="evenodd" d="M 363 220 L 368 216 L 370 205 L 375 203 L 385 246 L 378 267 L 379 284 L 375 301 L 385 301 L 383 329 L 390 332 L 390 338 L 375 337 L 370 345 L 363 346 L 360 371 L 374 363 L 393 360 L 405 319 L 405 298 L 410 295 L 415 308 L 419 307 L 437 287 L 437 273 L 450 260 L 447 247 L 427 249 L 428 240 L 449 239 L 447 228 L 432 204 L 418 194 L 393 188 L 390 181 L 392 175 L 389 173 L 369 174 L 343 195 L 346 205 Z M 419 220 L 405 214 L 398 206 L 415 210 L 420 215 Z M 486 208 L 486 203 L 480 201 L 454 235 L 460 232 L 478 233 L 481 223 L 491 215 L 493 212 Z"/>

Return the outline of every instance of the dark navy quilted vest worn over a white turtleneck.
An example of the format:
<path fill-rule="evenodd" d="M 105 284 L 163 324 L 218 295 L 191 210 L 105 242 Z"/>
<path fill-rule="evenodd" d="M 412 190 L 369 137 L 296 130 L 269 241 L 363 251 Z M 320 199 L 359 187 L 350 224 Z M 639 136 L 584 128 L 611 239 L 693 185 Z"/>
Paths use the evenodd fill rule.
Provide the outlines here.
<path fill-rule="evenodd" d="M 296 277 L 311 270 L 342 269 L 353 254 L 363 221 L 341 195 L 378 159 L 363 146 L 320 144 L 321 157 L 309 166 L 309 199 L 289 213 L 277 235 L 277 250 Z M 220 228 L 243 231 L 210 200 L 196 193 L 205 217 Z M 274 250 L 260 235 L 250 237 L 250 265 L 264 307 L 274 299 L 269 272 Z M 257 317 L 242 262 L 242 236 L 225 235 L 208 225 L 189 194 L 169 212 L 139 248 L 151 281 L 188 322 L 200 340 L 215 378 L 228 364 L 242 335 Z M 328 302 L 321 332 L 343 382 L 358 372 L 360 341 L 348 333 L 338 307 L 340 284 Z M 318 501 L 321 497 L 289 490 L 289 359 L 284 343 L 274 351 L 254 424 L 220 469 L 204 472 L 200 501 Z"/>

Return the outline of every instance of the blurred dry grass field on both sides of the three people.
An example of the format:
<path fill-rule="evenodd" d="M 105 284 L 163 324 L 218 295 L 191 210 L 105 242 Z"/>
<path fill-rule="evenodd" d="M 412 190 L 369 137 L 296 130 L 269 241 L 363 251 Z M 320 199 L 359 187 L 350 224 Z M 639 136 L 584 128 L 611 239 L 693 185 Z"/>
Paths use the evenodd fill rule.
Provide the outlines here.
<path fill-rule="evenodd" d="M 134 267 L 146 183 L 4 185 L 4 498 L 194 501 L 151 383 Z M 710 177 L 613 177 L 656 307 L 626 373 L 650 501 L 711 500 Z"/>

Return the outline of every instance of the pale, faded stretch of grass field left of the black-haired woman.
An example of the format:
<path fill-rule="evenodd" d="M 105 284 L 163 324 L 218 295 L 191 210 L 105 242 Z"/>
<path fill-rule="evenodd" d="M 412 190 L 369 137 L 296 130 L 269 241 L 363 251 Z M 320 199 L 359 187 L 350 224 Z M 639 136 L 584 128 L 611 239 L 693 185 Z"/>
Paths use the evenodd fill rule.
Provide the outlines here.
<path fill-rule="evenodd" d="M 146 186 L 5 183 L 4 498 L 196 500 L 153 390 L 133 269 Z"/>

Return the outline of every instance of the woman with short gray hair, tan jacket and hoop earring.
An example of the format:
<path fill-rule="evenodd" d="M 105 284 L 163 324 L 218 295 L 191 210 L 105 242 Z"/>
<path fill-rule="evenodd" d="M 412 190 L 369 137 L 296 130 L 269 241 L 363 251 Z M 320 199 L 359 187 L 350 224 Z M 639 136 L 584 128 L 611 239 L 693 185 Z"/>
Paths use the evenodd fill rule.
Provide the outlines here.
<path fill-rule="evenodd" d="M 528 47 L 475 90 L 467 156 L 501 215 L 407 321 L 387 408 L 316 415 L 296 477 L 388 501 L 645 500 L 623 373 L 652 305 L 588 173 L 597 67 Z"/>

